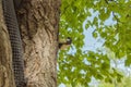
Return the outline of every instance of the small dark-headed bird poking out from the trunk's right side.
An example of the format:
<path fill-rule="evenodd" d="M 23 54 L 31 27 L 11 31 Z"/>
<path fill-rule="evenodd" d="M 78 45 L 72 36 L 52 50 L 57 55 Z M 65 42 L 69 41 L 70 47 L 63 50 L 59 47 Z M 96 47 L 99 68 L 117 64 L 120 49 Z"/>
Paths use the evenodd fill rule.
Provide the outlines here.
<path fill-rule="evenodd" d="M 72 42 L 71 37 L 68 37 L 66 40 L 59 41 L 59 49 L 60 50 L 67 49 L 68 47 L 71 46 L 71 42 Z"/>

